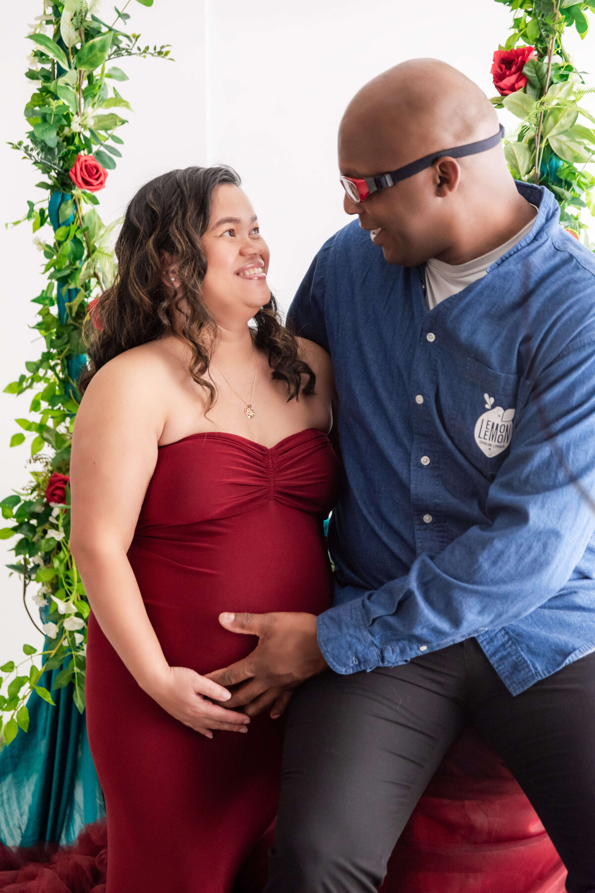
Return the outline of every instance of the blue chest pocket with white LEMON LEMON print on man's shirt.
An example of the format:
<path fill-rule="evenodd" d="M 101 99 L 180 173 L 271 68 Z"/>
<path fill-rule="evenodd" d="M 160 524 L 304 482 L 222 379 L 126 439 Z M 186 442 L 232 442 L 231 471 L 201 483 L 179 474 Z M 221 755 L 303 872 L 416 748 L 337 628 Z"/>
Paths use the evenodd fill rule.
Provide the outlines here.
<path fill-rule="evenodd" d="M 446 427 L 455 447 L 492 480 L 508 455 L 530 383 L 520 375 L 494 371 L 472 357 L 464 361 L 461 373 L 459 381 L 452 382 L 451 424 L 445 413 Z"/>

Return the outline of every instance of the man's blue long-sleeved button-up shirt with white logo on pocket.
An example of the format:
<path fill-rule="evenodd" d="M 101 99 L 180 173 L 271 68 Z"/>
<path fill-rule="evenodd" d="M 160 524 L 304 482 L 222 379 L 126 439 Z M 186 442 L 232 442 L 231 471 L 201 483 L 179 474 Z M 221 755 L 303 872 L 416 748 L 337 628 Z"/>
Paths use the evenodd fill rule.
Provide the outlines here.
<path fill-rule="evenodd" d="M 339 396 L 336 672 L 475 636 L 516 695 L 595 650 L 595 257 L 547 189 L 516 188 L 533 229 L 433 310 L 424 264 L 386 263 L 358 221 L 290 307 Z"/>

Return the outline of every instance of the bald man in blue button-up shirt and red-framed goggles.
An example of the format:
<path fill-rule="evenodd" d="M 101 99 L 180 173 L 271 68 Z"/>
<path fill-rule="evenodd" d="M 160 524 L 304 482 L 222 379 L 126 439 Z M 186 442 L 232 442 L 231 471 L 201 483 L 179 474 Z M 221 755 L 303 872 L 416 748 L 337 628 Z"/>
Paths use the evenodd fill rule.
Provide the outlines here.
<path fill-rule="evenodd" d="M 568 893 L 595 891 L 595 259 L 500 138 L 482 91 L 427 59 L 341 122 L 357 219 L 289 313 L 335 367 L 335 604 L 222 618 L 260 643 L 215 674 L 250 678 L 227 706 L 251 714 L 303 682 L 266 893 L 376 889 L 468 722 Z"/>

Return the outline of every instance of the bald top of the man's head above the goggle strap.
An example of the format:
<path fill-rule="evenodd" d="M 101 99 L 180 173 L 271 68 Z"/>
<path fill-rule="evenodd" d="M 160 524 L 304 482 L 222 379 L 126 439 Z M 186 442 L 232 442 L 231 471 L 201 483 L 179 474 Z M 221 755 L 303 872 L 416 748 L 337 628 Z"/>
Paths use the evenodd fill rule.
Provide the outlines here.
<path fill-rule="evenodd" d="M 351 99 L 339 129 L 339 155 L 369 158 L 376 170 L 349 171 L 368 175 L 497 131 L 498 116 L 472 80 L 440 60 L 409 59 Z"/>

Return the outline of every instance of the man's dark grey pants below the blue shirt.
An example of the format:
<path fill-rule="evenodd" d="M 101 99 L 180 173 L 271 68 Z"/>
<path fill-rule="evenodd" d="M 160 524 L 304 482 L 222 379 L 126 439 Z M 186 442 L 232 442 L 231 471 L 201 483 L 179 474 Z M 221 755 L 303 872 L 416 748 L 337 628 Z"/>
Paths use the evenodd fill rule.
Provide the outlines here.
<path fill-rule="evenodd" d="M 567 893 L 594 893 L 595 653 L 513 697 L 475 638 L 295 692 L 265 893 L 373 893 L 468 722 L 531 800 Z"/>

